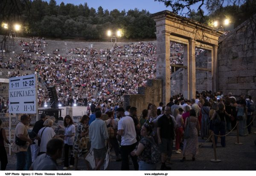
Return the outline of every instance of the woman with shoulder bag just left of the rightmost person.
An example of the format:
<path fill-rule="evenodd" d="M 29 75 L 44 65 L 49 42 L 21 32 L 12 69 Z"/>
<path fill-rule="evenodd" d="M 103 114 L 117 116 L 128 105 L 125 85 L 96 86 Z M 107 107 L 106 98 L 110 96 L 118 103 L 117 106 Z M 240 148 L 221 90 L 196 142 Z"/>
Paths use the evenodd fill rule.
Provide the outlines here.
<path fill-rule="evenodd" d="M 247 136 L 248 135 L 248 130 L 246 128 L 247 106 L 246 106 L 246 101 L 244 99 L 237 101 L 236 111 L 237 111 L 236 118 L 239 121 L 239 135 Z"/>

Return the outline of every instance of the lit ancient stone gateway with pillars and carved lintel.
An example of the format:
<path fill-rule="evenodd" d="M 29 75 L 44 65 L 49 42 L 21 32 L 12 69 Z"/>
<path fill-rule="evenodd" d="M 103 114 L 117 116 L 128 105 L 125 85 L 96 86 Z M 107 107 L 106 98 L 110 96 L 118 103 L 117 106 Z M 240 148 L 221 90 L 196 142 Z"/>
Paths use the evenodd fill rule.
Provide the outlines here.
<path fill-rule="evenodd" d="M 196 78 L 195 47 L 209 51 L 207 72 L 207 89 L 217 91 L 218 77 L 218 37 L 224 32 L 198 21 L 180 17 L 170 11 L 151 14 L 156 22 L 157 35 L 157 79 L 162 80 L 162 102 L 167 104 L 171 95 L 170 81 L 170 41 L 184 45 L 183 53 L 183 95 L 195 98 Z"/>

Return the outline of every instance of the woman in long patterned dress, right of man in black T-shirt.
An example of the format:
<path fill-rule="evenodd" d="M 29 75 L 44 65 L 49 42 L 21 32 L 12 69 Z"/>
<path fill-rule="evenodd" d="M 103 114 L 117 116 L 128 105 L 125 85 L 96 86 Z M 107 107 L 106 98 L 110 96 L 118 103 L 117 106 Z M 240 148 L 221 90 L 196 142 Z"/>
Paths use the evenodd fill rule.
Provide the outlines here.
<path fill-rule="evenodd" d="M 186 160 L 186 156 L 192 153 L 192 161 L 195 161 L 195 155 L 198 154 L 198 131 L 199 121 L 196 118 L 195 110 L 189 111 L 190 116 L 185 121 L 185 133 L 188 130 L 188 136 L 184 133 L 184 146 L 183 146 L 183 159 L 180 162 Z"/>

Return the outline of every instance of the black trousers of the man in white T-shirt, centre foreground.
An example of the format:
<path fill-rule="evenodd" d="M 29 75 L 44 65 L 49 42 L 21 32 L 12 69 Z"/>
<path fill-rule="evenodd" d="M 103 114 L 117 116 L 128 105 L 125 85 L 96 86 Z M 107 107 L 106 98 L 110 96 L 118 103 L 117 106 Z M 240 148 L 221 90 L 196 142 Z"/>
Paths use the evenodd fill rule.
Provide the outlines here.
<path fill-rule="evenodd" d="M 122 166 L 121 170 L 129 170 L 129 155 L 135 149 L 137 142 L 131 145 L 122 145 L 121 146 L 121 156 L 122 156 Z M 134 170 L 139 170 L 139 164 L 137 162 L 137 156 L 131 156 L 131 160 L 134 164 Z"/>

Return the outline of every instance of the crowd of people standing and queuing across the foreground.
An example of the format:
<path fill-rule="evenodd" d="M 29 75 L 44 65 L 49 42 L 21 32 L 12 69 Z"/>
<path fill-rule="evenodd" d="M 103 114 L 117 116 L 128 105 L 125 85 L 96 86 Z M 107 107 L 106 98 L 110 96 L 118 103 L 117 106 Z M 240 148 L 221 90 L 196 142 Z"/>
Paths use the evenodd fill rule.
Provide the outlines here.
<path fill-rule="evenodd" d="M 186 162 L 189 156 L 195 161 L 199 152 L 198 136 L 211 142 L 213 136 L 210 133 L 213 131 L 215 144 L 218 144 L 218 135 L 221 135 L 221 146 L 226 147 L 226 130 L 235 129 L 236 121 L 239 121 L 239 135 L 249 135 L 251 115 L 255 107 L 251 96 L 240 96 L 239 100 L 236 100 L 232 93 L 224 96 L 222 92 L 212 94 L 211 91 L 206 91 L 200 94 L 197 92 L 197 98 L 190 100 L 182 94 L 175 95 L 166 106 L 163 103 L 158 107 L 149 104 L 141 116 L 137 115 L 136 107 L 128 106 L 124 109 L 111 101 L 107 103 L 107 108 L 92 103 L 90 110 L 92 114 L 83 115 L 79 124 L 74 124 L 70 115 L 66 115 L 64 127 L 60 126 L 64 129 L 64 135 L 58 136 L 52 129 L 53 121 L 41 114 L 41 119 L 35 123 L 32 130 L 36 134 L 34 138 L 27 130 L 30 117 L 22 115 L 15 129 L 12 146 L 12 151 L 17 157 L 16 169 L 57 170 L 55 163 L 44 162 L 61 157 L 62 148 L 57 144 L 52 146 L 52 143 L 59 143 L 64 144 L 63 170 L 73 167 L 78 170 L 78 160 L 86 157 L 89 151 L 94 153 L 95 166 L 92 167 L 87 159 L 83 159 L 83 169 L 100 170 L 106 152 L 111 148 L 115 152 L 116 162 L 122 162 L 121 170 L 130 170 L 129 156 L 134 170 L 156 170 L 156 164 L 159 162 L 160 170 L 170 170 L 174 142 L 175 153 L 183 155 L 180 162 Z M 108 115 L 105 121 L 102 119 L 103 111 Z M 3 144 L 3 141 L 9 143 L 3 129 L 1 136 L 0 144 Z M 20 144 L 17 139 L 24 141 L 24 144 Z M 7 164 L 4 156 L 6 155 L 3 152 L 3 169 Z M 35 163 L 41 163 L 41 166 Z"/>

